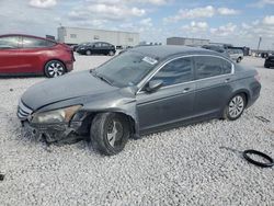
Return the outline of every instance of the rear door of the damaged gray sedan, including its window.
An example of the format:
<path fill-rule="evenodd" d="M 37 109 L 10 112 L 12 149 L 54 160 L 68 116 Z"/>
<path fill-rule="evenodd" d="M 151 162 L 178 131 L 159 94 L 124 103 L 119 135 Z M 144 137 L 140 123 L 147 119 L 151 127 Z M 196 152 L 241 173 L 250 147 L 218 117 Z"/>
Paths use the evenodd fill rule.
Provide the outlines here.
<path fill-rule="evenodd" d="M 195 115 L 219 114 L 232 92 L 233 65 L 217 56 L 196 56 L 194 62 L 196 80 Z"/>

